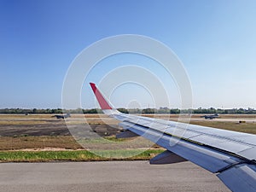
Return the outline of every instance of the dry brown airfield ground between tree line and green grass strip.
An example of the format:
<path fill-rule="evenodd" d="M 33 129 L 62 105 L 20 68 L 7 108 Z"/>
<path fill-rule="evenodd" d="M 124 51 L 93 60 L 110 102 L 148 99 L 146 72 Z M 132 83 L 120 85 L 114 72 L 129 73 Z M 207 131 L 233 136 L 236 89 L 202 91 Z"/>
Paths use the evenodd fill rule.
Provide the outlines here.
<path fill-rule="evenodd" d="M 174 121 L 179 119 L 195 125 L 256 134 L 256 115 L 225 114 L 212 120 L 201 118 L 201 114 L 193 115 L 191 119 L 189 116 L 176 114 L 145 116 Z M 242 123 L 239 123 L 240 121 Z M 116 140 L 114 136 L 121 131 L 118 123 L 104 114 L 73 114 L 66 121 L 55 119 L 51 114 L 0 114 L 0 151 L 158 148 L 143 138 L 137 138 L 134 142 Z M 82 132 L 82 137 L 86 139 L 80 139 L 77 143 L 70 131 L 76 132 L 75 137 L 78 140 L 78 131 Z M 113 143 L 108 143 L 107 146 L 99 140 L 99 136 Z"/>

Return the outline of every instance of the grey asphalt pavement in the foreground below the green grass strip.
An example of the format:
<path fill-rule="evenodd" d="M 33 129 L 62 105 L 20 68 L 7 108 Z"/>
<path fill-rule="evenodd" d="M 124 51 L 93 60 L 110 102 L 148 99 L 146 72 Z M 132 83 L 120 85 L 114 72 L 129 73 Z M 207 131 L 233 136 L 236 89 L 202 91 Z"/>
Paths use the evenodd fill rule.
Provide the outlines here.
<path fill-rule="evenodd" d="M 149 165 L 148 161 L 0 164 L 4 192 L 228 192 L 214 174 L 190 162 Z"/>

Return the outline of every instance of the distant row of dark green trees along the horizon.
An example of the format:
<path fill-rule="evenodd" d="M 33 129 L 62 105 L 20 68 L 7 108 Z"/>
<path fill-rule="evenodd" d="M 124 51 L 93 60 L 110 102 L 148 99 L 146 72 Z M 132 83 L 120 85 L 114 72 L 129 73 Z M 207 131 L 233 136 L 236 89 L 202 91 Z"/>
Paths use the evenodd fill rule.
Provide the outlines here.
<path fill-rule="evenodd" d="M 122 113 L 219 113 L 219 114 L 256 114 L 254 108 L 197 108 L 197 109 L 178 109 L 178 108 L 118 108 Z M 25 109 L 25 108 L 3 108 L 0 109 L 0 113 L 24 113 L 24 114 L 35 114 L 35 113 L 102 113 L 101 109 L 98 108 L 77 108 L 77 109 L 61 109 L 61 108 L 46 108 L 46 109 Z"/>

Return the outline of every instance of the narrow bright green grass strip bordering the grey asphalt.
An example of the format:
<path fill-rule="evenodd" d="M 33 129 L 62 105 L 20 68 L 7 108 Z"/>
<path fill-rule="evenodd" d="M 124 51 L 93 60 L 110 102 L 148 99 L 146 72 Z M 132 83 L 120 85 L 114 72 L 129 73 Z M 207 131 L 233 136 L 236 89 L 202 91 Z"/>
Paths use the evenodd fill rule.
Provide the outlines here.
<path fill-rule="evenodd" d="M 95 154 L 80 151 L 1 151 L 0 162 L 46 162 L 46 161 L 100 161 L 100 160 L 149 160 L 162 149 L 102 150 Z"/>

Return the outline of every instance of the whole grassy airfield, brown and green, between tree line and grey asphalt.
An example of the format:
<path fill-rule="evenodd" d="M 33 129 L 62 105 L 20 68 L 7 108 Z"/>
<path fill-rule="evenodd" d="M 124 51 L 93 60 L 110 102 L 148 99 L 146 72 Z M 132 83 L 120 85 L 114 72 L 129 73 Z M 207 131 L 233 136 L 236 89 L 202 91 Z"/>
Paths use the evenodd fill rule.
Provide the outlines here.
<path fill-rule="evenodd" d="M 201 115 L 142 115 L 256 134 L 255 115 L 221 115 L 212 120 Z M 163 151 L 143 137 L 116 139 L 121 131 L 118 123 L 104 114 L 72 114 L 66 120 L 51 114 L 0 114 L 0 162 L 148 160 Z M 73 131 L 78 135 L 73 137 Z"/>

